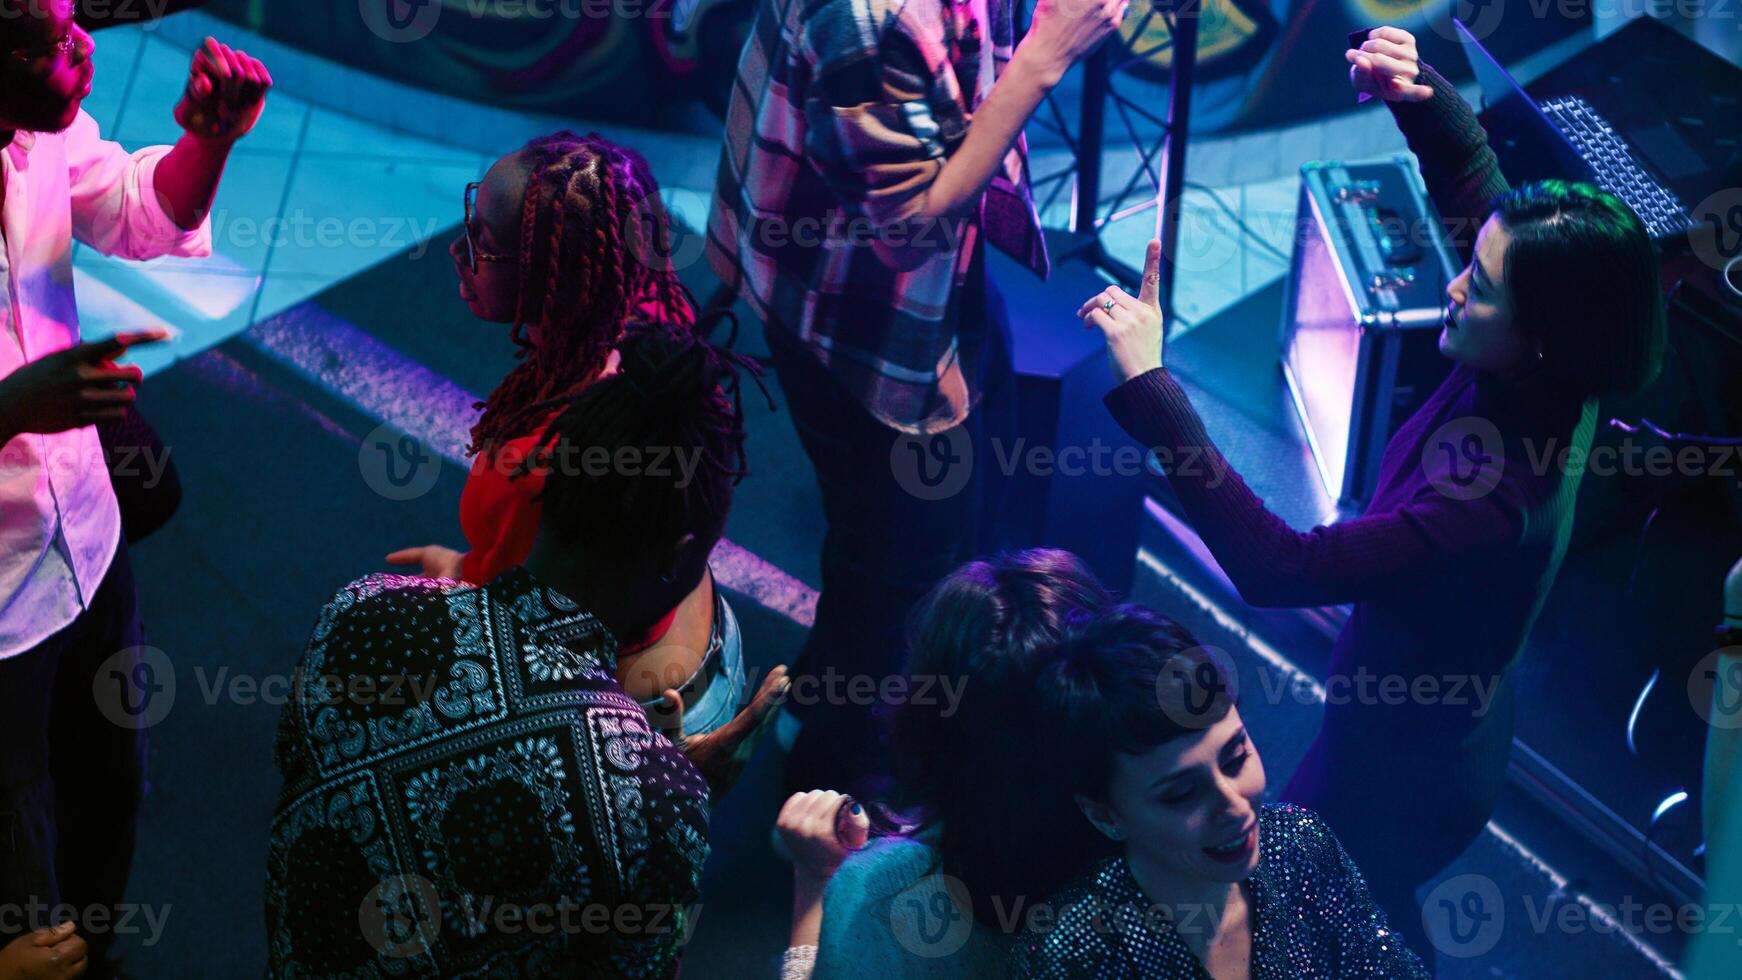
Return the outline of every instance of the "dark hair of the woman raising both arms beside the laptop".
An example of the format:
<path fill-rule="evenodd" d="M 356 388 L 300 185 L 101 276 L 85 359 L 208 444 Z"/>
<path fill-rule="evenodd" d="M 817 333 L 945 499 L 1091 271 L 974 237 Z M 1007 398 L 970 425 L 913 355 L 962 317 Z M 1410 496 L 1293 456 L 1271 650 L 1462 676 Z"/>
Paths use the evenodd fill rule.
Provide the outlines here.
<path fill-rule="evenodd" d="M 1514 319 L 1542 345 L 1556 385 L 1577 397 L 1634 392 L 1657 378 L 1667 327 L 1657 252 L 1613 193 L 1538 181 L 1495 198 L 1512 233 L 1505 285 Z"/>

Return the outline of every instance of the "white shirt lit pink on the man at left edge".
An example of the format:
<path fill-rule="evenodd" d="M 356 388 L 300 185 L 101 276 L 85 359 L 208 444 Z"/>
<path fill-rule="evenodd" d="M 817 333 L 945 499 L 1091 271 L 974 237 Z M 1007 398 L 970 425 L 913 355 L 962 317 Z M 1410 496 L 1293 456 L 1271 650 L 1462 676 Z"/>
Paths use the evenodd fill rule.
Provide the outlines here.
<path fill-rule="evenodd" d="M 209 256 L 211 223 L 185 232 L 152 178 L 167 146 L 127 153 L 84 111 L 66 132 L 19 132 L 5 169 L 0 376 L 78 343 L 73 235 L 127 259 Z M 71 623 L 120 540 L 120 508 L 92 425 L 0 447 L 0 658 Z"/>

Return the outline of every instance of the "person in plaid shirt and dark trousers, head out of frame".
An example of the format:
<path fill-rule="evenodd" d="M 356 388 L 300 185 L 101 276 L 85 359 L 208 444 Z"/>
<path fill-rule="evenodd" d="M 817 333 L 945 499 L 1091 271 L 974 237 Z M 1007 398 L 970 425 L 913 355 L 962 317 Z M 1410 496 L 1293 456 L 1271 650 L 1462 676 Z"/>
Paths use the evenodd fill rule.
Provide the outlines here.
<path fill-rule="evenodd" d="M 868 698 L 827 693 L 899 672 L 908 609 L 995 543 L 988 449 L 1016 409 L 982 247 L 1045 275 L 1023 125 L 1124 14 L 1125 0 L 1040 0 L 1017 45 L 1010 0 L 758 9 L 707 259 L 765 322 L 827 519 L 789 700 L 794 787 L 881 771 Z"/>

